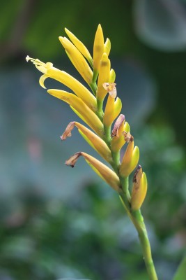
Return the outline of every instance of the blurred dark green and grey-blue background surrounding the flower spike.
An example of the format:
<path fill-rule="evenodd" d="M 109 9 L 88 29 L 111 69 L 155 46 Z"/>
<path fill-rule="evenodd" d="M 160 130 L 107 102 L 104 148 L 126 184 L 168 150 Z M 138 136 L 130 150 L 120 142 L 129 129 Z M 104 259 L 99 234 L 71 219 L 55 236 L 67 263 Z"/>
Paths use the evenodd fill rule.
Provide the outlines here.
<path fill-rule="evenodd" d="M 81 80 L 58 36 L 67 27 L 92 52 L 98 23 L 111 39 L 118 95 L 148 176 L 142 211 L 160 279 L 171 279 L 185 254 L 185 1 L 1 1 L 1 280 L 148 279 L 116 193 L 84 160 L 64 165 L 77 151 L 95 155 L 76 131 L 59 139 L 77 116 L 25 61 L 53 62 Z"/>

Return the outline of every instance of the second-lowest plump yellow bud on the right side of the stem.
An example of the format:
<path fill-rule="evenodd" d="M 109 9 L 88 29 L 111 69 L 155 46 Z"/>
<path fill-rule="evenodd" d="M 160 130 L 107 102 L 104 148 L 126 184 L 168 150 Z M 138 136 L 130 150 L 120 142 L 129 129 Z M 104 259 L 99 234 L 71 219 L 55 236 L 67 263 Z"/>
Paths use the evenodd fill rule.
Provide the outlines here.
<path fill-rule="evenodd" d="M 137 166 L 139 161 L 139 148 L 137 146 L 134 147 L 134 138 L 132 135 L 130 136 L 130 141 L 128 143 L 127 149 L 123 156 L 123 160 L 121 162 L 120 174 L 122 177 L 127 177 Z"/>

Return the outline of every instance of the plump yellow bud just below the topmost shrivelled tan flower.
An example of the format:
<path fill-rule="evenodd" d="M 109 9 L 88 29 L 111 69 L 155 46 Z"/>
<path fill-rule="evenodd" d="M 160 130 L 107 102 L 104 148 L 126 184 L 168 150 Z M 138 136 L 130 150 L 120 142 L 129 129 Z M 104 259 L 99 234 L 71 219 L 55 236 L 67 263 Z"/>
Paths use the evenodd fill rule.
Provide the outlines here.
<path fill-rule="evenodd" d="M 105 106 L 104 117 L 103 117 L 103 124 L 106 127 L 110 127 L 111 124 L 114 122 L 115 118 L 119 115 L 122 108 L 121 99 L 118 97 L 116 101 L 111 95 L 108 96 L 107 104 Z"/>

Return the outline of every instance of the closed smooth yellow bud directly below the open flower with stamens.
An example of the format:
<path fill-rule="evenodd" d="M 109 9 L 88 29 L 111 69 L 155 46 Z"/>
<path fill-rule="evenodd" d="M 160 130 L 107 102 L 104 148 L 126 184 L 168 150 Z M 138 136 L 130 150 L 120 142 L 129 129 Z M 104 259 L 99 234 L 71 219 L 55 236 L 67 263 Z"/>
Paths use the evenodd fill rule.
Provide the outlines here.
<path fill-rule="evenodd" d="M 49 94 L 57 97 L 72 106 L 75 111 L 82 116 L 82 120 L 91 127 L 100 137 L 103 137 L 103 125 L 98 116 L 91 111 L 91 109 L 82 102 L 82 99 L 75 96 L 75 94 L 65 92 L 64 90 L 48 90 Z"/>

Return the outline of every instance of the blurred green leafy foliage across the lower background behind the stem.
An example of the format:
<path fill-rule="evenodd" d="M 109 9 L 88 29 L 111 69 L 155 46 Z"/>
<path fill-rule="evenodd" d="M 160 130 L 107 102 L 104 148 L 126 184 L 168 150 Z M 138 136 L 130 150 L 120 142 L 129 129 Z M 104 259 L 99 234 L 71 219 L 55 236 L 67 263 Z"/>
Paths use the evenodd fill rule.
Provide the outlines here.
<path fill-rule="evenodd" d="M 158 134 L 146 127 L 137 135 L 149 181 L 143 212 L 164 280 L 171 279 L 186 242 L 186 193 L 180 186 L 185 155 L 174 137 L 166 127 Z M 36 186 L 28 186 L 13 202 L 1 200 L 0 213 L 0 279 L 146 279 L 137 233 L 104 184 L 90 181 L 65 202 L 44 199 Z"/>

